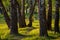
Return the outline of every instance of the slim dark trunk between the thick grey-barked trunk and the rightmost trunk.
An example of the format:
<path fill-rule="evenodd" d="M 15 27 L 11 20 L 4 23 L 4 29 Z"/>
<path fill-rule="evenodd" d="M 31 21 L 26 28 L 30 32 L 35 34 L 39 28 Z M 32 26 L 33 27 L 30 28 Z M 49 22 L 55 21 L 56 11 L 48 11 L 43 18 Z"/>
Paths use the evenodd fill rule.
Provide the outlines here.
<path fill-rule="evenodd" d="M 47 29 L 51 30 L 51 22 L 52 22 L 52 0 L 48 0 L 49 9 L 48 9 L 48 17 L 47 17 Z"/>

